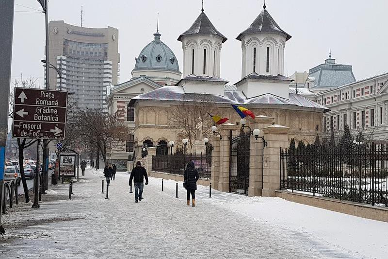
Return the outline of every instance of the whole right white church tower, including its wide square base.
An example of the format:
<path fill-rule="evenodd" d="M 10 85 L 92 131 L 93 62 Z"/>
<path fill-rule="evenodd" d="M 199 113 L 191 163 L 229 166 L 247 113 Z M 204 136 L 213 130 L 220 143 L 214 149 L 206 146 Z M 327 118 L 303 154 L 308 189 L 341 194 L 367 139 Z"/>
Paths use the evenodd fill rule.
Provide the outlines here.
<path fill-rule="evenodd" d="M 241 41 L 242 80 L 235 85 L 247 98 L 272 94 L 289 99 L 291 78 L 283 76 L 284 48 L 291 35 L 266 10 L 236 39 Z"/>

